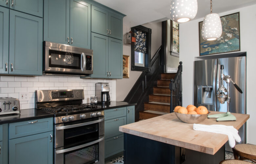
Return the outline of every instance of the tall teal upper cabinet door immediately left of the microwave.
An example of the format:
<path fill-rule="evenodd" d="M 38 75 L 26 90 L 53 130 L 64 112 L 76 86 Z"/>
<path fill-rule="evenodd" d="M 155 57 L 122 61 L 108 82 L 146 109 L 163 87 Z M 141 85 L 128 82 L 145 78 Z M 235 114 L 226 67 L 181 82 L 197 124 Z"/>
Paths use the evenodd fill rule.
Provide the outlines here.
<path fill-rule="evenodd" d="M 10 10 L 9 73 L 42 75 L 43 18 Z"/>

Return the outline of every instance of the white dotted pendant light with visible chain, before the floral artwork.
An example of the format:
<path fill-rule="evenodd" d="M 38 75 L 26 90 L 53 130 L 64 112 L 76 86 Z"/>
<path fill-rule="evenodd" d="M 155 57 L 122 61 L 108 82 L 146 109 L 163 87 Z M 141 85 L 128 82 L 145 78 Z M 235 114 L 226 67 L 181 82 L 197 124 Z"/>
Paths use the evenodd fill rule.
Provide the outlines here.
<path fill-rule="evenodd" d="M 212 0 L 211 0 L 211 13 L 203 18 L 203 25 L 201 36 L 204 40 L 216 40 L 221 37 L 222 25 L 219 14 L 212 13 Z"/>

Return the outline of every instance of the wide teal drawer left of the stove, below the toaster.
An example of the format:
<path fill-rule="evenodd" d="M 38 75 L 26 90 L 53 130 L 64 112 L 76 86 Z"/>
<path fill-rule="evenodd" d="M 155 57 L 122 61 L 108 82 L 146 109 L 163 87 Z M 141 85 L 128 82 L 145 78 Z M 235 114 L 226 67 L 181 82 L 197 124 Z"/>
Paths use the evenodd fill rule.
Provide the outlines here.
<path fill-rule="evenodd" d="M 53 131 L 53 118 L 9 124 L 9 139 Z"/>

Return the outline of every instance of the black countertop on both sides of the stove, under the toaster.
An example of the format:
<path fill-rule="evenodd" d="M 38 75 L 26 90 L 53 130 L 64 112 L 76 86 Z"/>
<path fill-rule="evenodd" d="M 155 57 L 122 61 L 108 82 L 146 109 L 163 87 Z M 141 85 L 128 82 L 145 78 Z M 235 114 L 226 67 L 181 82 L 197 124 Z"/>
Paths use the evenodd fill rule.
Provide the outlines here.
<path fill-rule="evenodd" d="M 111 101 L 110 104 L 97 104 L 99 108 L 103 110 L 112 109 L 112 108 L 121 108 L 127 106 L 134 106 L 136 103 L 127 103 L 123 101 Z M 20 110 L 20 114 L 6 114 L 0 115 L 0 124 L 13 123 L 28 121 L 41 118 L 54 117 L 53 113 L 48 113 L 38 109 L 23 109 Z"/>

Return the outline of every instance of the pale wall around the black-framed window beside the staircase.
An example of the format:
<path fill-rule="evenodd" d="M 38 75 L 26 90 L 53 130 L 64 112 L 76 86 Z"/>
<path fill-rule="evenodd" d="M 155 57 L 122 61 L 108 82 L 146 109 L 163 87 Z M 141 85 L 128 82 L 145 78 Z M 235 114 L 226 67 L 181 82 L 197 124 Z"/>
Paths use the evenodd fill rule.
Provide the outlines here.
<path fill-rule="evenodd" d="M 162 23 L 146 23 L 142 26 L 152 29 L 151 34 L 151 58 L 161 46 L 162 38 Z M 123 24 L 123 34 L 130 31 L 130 27 Z M 123 54 L 130 56 L 130 78 L 117 79 L 116 97 L 117 101 L 123 101 L 127 94 L 132 89 L 133 85 L 139 78 L 141 71 L 131 71 L 131 46 L 123 45 Z"/>

